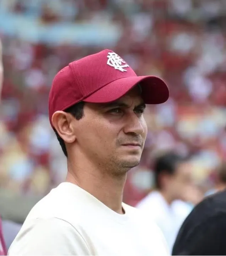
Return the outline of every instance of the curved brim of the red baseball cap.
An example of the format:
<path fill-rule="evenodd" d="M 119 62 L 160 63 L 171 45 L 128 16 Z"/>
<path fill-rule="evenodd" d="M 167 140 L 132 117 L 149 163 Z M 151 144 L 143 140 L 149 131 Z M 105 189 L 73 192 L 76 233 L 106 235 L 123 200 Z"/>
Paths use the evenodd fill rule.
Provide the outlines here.
<path fill-rule="evenodd" d="M 124 96 L 137 84 L 141 86 L 141 97 L 146 104 L 161 104 L 169 98 L 168 86 L 161 78 L 157 76 L 130 76 L 110 82 L 83 101 L 91 103 L 112 102 Z"/>

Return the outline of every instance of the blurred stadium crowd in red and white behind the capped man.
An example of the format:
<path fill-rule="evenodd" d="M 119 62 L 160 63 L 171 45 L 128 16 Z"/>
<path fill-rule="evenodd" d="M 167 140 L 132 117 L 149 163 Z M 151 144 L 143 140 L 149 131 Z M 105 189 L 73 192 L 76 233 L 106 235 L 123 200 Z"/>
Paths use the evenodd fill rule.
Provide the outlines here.
<path fill-rule="evenodd" d="M 152 161 L 172 149 L 189 157 L 203 193 L 213 187 L 226 157 L 225 18 L 224 0 L 1 0 L 0 187 L 42 197 L 63 181 L 49 89 L 58 70 L 103 48 L 170 89 L 145 112 L 149 134 L 124 201 L 134 206 L 155 186 Z"/>

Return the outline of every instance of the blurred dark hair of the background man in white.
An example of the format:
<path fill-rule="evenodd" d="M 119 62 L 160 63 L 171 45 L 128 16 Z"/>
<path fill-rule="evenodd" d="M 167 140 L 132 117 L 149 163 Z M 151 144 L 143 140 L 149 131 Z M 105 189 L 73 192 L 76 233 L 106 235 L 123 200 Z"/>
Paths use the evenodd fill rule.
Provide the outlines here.
<path fill-rule="evenodd" d="M 154 174 L 156 187 L 158 189 L 161 189 L 160 176 L 162 174 L 173 175 L 176 171 L 176 165 L 183 160 L 185 159 L 182 156 L 174 152 L 168 152 L 156 158 L 154 163 Z"/>

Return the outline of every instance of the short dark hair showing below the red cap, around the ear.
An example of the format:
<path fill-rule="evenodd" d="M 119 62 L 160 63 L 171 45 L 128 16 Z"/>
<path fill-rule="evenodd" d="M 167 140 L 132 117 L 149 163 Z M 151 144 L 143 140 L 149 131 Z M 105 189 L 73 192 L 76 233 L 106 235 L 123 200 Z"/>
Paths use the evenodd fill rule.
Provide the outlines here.
<path fill-rule="evenodd" d="M 74 116 L 76 118 L 76 120 L 80 120 L 84 116 L 84 105 L 85 105 L 85 102 L 81 101 L 81 102 L 76 103 L 75 105 L 72 105 L 71 107 L 67 108 L 66 110 L 64 110 L 64 112 L 70 113 L 70 114 L 72 114 L 72 116 Z M 66 157 L 68 157 L 68 153 L 66 150 L 66 145 L 65 145 L 64 140 L 60 137 L 60 135 L 58 134 L 58 132 L 55 129 L 53 129 L 53 130 L 54 130 L 55 134 L 57 135 L 57 139 L 58 139 L 60 146 L 64 152 L 64 155 Z"/>

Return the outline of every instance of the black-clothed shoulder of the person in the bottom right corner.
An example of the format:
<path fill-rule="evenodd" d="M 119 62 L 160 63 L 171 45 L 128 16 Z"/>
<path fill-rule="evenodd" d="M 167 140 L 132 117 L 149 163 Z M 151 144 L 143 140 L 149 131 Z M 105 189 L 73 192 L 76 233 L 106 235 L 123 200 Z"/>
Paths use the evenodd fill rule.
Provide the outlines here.
<path fill-rule="evenodd" d="M 206 197 L 185 219 L 172 255 L 226 255 L 226 190 Z"/>

